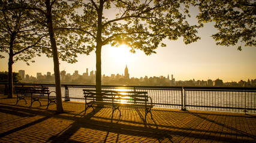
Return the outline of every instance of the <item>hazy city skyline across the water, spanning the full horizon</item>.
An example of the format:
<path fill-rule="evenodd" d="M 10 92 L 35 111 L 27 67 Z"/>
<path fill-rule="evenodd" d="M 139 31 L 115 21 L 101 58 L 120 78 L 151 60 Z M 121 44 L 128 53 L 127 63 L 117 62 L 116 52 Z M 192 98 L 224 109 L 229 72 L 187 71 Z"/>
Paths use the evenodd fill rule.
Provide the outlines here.
<path fill-rule="evenodd" d="M 19 70 L 19 74 L 22 77 L 22 82 L 25 83 L 55 83 L 55 76 L 49 71 L 47 74 L 37 73 L 37 77 L 25 75 L 25 70 Z M 65 70 L 60 72 L 61 81 L 65 84 L 74 85 L 95 85 L 96 71 L 89 71 L 86 69 L 86 73 L 79 74 L 78 70 L 75 70 L 73 74 L 66 73 Z M 256 79 L 248 79 L 247 81 L 240 80 L 239 82 L 223 82 L 222 79 L 208 79 L 208 80 L 175 80 L 173 74 L 171 76 L 153 76 L 153 77 L 129 77 L 128 67 L 125 67 L 122 74 L 111 74 L 106 76 L 101 75 L 102 85 L 138 85 L 138 86 L 229 86 L 229 87 L 254 87 L 256 86 Z"/>

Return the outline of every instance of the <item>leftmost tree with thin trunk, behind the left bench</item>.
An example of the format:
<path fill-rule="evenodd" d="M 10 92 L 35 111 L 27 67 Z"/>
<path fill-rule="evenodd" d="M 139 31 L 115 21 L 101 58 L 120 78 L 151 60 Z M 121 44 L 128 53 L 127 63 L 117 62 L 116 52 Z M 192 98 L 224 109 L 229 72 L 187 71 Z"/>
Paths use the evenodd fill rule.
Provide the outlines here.
<path fill-rule="evenodd" d="M 1 9 L 13 5 L 14 1 L 1 1 Z M 44 29 L 31 17 L 31 10 L 0 11 L 0 52 L 8 53 L 8 98 L 13 98 L 13 64 L 23 60 L 27 64 L 35 55 L 40 55 L 40 44 L 45 37 Z M 0 55 L 0 58 L 4 58 Z M 33 61 L 32 61 L 33 62 Z"/>

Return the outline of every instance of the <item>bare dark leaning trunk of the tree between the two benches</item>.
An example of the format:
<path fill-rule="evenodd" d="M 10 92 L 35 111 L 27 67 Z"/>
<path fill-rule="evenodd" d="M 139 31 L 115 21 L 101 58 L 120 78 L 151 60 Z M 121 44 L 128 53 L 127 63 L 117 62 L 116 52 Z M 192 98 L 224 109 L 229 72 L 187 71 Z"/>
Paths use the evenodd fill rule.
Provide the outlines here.
<path fill-rule="evenodd" d="M 50 42 L 53 52 L 53 64 L 54 64 L 54 74 L 55 74 L 55 86 L 56 86 L 56 110 L 57 113 L 63 112 L 62 107 L 62 98 L 61 98 L 61 76 L 59 74 L 59 57 L 58 57 L 58 49 L 56 45 L 55 35 L 53 31 L 53 23 L 52 23 L 52 7 L 50 5 L 50 0 L 46 0 L 46 18 L 47 18 L 47 26 L 49 29 Z"/>

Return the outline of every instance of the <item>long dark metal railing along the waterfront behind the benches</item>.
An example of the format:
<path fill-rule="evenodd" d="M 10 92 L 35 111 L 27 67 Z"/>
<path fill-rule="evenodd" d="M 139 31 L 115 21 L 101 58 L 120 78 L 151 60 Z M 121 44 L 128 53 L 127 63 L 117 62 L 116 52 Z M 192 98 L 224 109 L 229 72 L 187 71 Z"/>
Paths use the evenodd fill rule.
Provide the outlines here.
<path fill-rule="evenodd" d="M 0 83 L 7 88 L 6 83 Z M 48 86 L 54 84 L 16 83 L 14 86 Z M 62 85 L 62 99 L 85 102 L 83 89 L 95 89 L 95 85 Z M 103 89 L 122 91 L 146 91 L 155 107 L 181 110 L 212 110 L 256 113 L 256 88 L 188 87 L 188 86 L 109 86 Z M 2 89 L 2 91 L 7 91 Z M 6 94 L 6 93 L 5 93 Z"/>

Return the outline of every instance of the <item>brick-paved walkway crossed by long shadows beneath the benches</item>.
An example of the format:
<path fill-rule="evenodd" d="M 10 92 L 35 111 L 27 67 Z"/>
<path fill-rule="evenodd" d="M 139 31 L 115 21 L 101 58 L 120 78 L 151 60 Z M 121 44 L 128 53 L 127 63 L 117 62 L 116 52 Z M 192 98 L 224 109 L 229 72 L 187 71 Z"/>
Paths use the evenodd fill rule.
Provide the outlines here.
<path fill-rule="evenodd" d="M 256 114 L 180 111 L 153 108 L 153 120 L 143 111 L 111 108 L 84 113 L 85 104 L 63 102 L 65 113 L 46 110 L 46 101 L 32 107 L 0 95 L 0 142 L 256 142 Z M 30 101 L 28 100 L 28 103 Z"/>

